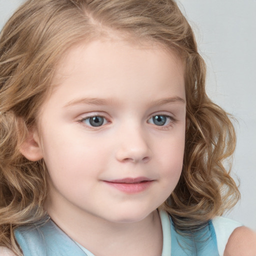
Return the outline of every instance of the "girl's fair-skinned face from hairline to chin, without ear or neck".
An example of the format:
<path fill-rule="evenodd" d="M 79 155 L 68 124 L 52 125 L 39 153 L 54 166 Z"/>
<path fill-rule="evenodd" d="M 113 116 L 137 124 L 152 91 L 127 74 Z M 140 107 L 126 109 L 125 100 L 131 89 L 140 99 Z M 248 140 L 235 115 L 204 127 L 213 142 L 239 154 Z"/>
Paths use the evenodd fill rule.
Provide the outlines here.
<path fill-rule="evenodd" d="M 181 60 L 157 45 L 95 40 L 66 53 L 53 83 L 38 129 L 49 214 L 112 222 L 149 215 L 181 173 Z"/>

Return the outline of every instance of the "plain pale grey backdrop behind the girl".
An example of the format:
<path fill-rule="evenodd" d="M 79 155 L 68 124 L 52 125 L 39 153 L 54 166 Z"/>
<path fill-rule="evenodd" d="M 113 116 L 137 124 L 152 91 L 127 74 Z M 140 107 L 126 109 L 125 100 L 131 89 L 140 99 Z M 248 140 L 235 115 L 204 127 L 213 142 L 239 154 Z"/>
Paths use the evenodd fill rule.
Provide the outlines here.
<path fill-rule="evenodd" d="M 0 0 L 0 28 L 23 0 Z M 237 119 L 241 200 L 226 214 L 256 231 L 256 0 L 179 0 L 207 64 L 207 93 Z"/>

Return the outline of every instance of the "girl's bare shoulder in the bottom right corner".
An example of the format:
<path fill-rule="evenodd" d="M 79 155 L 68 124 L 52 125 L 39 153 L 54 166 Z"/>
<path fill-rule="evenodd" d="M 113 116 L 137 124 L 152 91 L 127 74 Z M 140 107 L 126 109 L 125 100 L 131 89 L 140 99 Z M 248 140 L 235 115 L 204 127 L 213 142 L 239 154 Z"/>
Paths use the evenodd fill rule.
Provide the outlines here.
<path fill-rule="evenodd" d="M 255 256 L 256 255 L 256 233 L 245 226 L 234 229 L 231 233 L 224 256 Z"/>

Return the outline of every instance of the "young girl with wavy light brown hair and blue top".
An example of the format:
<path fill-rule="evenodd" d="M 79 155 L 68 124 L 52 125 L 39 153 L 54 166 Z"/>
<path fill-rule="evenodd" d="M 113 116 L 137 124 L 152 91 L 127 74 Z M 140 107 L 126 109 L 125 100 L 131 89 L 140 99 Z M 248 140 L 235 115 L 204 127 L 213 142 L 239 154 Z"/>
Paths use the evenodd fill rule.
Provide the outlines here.
<path fill-rule="evenodd" d="M 173 0 L 27 0 L 0 34 L 0 255 L 256 255 L 227 113 Z"/>

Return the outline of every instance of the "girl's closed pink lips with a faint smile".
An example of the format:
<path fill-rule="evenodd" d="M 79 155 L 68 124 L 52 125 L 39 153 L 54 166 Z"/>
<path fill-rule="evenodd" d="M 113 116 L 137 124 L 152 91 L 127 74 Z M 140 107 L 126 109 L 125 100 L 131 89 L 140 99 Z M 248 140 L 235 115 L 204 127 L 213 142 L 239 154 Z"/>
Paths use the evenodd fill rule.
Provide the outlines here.
<path fill-rule="evenodd" d="M 153 180 L 147 177 L 127 177 L 122 179 L 104 180 L 104 182 L 125 193 L 139 193 L 147 189 L 152 184 Z"/>

